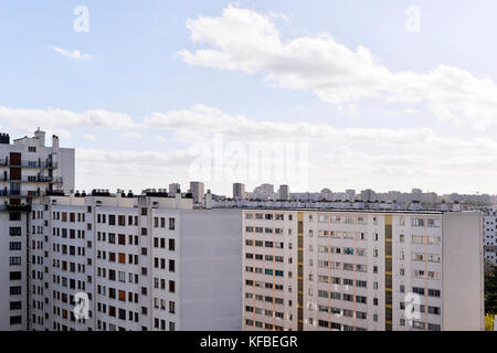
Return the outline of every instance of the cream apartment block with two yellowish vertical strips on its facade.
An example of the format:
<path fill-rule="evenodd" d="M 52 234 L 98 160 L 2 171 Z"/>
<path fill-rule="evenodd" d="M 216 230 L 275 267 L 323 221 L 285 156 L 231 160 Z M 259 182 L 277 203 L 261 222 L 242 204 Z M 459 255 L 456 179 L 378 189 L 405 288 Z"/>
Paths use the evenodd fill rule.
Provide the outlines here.
<path fill-rule="evenodd" d="M 482 330 L 482 234 L 479 212 L 243 210 L 243 329 Z"/>

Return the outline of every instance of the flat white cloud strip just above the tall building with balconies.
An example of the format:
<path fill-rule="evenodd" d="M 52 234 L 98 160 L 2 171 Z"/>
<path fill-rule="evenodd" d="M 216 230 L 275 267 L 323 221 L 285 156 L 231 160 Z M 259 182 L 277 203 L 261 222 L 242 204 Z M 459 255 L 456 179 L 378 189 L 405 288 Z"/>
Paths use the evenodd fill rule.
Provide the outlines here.
<path fill-rule="evenodd" d="M 128 115 L 104 109 L 76 113 L 59 108 L 23 109 L 0 106 L 0 120 L 10 127 L 34 131 L 36 127 L 54 130 L 61 127 L 133 128 Z"/>

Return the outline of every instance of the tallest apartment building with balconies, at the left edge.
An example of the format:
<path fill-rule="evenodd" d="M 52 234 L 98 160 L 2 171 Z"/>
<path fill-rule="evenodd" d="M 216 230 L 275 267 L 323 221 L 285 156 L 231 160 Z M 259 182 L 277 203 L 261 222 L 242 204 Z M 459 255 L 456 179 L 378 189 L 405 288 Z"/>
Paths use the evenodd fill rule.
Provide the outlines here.
<path fill-rule="evenodd" d="M 31 204 L 46 193 L 74 188 L 74 149 L 45 132 L 10 141 L 0 133 L 0 330 L 27 330 Z"/>

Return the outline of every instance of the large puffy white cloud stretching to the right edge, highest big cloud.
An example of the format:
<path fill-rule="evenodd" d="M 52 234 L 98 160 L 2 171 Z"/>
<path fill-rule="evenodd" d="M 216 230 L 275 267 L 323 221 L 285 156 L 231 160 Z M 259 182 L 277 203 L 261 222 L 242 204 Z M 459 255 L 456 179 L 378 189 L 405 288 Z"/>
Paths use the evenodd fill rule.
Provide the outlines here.
<path fill-rule="evenodd" d="M 207 45 L 178 54 L 190 65 L 263 73 L 273 84 L 304 89 L 341 105 L 373 97 L 423 104 L 437 118 L 484 128 L 497 122 L 497 86 L 457 67 L 427 73 L 392 72 L 368 49 L 338 43 L 330 34 L 285 41 L 273 17 L 232 6 L 220 17 L 188 20 L 191 40 Z"/>

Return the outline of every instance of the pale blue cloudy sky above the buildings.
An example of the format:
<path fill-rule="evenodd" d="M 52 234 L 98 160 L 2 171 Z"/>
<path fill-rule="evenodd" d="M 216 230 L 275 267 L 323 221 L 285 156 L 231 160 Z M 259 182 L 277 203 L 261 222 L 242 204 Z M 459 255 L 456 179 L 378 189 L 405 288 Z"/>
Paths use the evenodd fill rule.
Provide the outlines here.
<path fill-rule="evenodd" d="M 497 2 L 0 2 L 0 131 L 76 188 L 497 193 Z"/>

